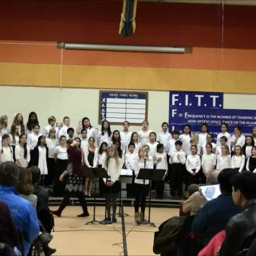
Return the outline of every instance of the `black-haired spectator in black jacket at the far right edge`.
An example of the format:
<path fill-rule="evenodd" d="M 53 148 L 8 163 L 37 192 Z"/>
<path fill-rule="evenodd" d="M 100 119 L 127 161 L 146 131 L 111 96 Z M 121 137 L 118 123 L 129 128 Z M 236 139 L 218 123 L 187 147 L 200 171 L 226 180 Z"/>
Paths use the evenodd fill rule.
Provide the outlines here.
<path fill-rule="evenodd" d="M 220 256 L 233 256 L 241 251 L 249 231 L 256 230 L 256 175 L 242 172 L 232 179 L 233 201 L 242 207 L 241 214 L 232 217 L 226 227 L 226 239 Z"/>

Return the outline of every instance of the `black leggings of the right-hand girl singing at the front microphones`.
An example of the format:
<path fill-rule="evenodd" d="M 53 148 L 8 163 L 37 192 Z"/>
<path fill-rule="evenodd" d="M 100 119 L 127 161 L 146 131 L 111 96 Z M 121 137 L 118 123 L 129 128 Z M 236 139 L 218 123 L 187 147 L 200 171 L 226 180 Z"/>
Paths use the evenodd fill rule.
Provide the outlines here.
<path fill-rule="evenodd" d="M 140 211 L 142 213 L 145 212 L 146 197 L 148 195 L 149 187 L 150 187 L 149 185 L 144 185 L 144 188 L 143 188 L 143 184 L 134 183 L 134 188 L 135 188 L 134 209 L 135 209 L 135 212 L 139 212 L 139 207 L 140 207 Z"/>

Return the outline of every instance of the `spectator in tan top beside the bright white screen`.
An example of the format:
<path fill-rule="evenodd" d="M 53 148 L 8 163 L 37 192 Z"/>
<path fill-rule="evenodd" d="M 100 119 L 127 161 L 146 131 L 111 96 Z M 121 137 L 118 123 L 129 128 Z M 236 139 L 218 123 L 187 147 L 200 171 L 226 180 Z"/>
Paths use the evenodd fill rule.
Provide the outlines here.
<path fill-rule="evenodd" d="M 183 203 L 182 211 L 184 214 L 193 216 L 197 213 L 198 209 L 207 202 L 207 200 L 201 191 L 199 191 L 199 185 L 197 184 L 191 184 L 187 191 L 189 198 Z"/>

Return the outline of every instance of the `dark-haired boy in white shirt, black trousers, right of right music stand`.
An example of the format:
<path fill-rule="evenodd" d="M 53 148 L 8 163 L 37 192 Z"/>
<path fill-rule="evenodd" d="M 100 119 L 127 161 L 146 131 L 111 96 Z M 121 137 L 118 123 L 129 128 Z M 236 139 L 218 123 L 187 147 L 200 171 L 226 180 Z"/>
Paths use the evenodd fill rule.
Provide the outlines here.
<path fill-rule="evenodd" d="M 184 165 L 186 163 L 186 154 L 181 150 L 182 141 L 177 140 L 175 142 L 176 151 L 170 155 L 169 163 L 172 165 L 172 172 L 170 174 L 170 194 L 172 197 L 182 197 L 182 177 L 184 173 Z"/>

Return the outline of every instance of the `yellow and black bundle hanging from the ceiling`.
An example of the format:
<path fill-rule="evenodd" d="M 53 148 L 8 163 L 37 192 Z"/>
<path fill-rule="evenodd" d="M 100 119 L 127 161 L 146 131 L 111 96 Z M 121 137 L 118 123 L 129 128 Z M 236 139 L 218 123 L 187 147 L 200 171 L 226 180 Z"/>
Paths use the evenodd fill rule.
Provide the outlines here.
<path fill-rule="evenodd" d="M 135 33 L 137 0 L 123 0 L 123 12 L 119 26 L 119 35 L 131 36 Z"/>

